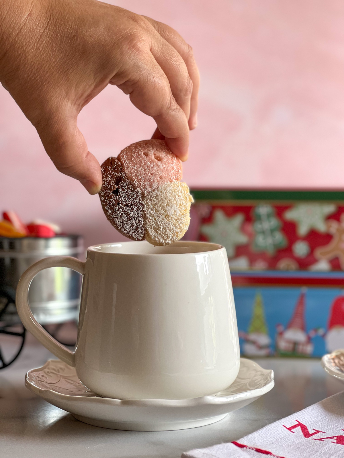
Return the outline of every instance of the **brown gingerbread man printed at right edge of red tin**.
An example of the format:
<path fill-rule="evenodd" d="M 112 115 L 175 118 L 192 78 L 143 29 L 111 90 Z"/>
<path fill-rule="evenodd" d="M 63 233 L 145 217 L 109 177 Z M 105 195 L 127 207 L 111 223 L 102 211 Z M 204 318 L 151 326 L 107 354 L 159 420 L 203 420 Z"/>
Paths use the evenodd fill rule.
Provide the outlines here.
<path fill-rule="evenodd" d="M 340 267 L 344 270 L 344 213 L 340 215 L 340 222 L 329 219 L 326 225 L 328 232 L 333 234 L 333 239 L 327 245 L 316 248 L 314 256 L 327 261 L 338 257 Z"/>

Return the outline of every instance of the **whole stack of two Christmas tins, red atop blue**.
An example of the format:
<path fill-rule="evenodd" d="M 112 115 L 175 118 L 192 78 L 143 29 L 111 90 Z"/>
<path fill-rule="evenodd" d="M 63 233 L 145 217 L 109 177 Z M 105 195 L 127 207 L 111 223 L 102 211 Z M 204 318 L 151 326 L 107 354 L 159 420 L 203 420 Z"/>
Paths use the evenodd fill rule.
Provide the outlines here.
<path fill-rule="evenodd" d="M 344 348 L 344 192 L 192 191 L 187 240 L 226 247 L 241 354 Z"/>

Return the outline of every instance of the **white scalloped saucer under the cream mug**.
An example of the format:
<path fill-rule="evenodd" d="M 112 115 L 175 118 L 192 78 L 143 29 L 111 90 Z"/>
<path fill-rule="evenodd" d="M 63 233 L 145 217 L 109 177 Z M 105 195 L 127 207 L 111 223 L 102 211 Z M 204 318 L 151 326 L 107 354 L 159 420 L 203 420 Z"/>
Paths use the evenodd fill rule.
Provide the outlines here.
<path fill-rule="evenodd" d="M 193 399 L 110 399 L 84 387 L 75 369 L 60 360 L 28 371 L 25 385 L 50 404 L 67 410 L 89 425 L 128 431 L 169 431 L 209 425 L 222 420 L 267 393 L 273 371 L 241 358 L 237 378 L 226 390 Z"/>

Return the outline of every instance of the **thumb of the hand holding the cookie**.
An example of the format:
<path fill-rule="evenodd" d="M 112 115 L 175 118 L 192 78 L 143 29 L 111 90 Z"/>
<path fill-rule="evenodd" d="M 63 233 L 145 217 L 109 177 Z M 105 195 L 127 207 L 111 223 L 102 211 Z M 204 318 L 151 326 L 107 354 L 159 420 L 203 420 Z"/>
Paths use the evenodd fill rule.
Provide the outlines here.
<path fill-rule="evenodd" d="M 38 122 L 36 129 L 56 169 L 79 180 L 90 194 L 97 194 L 102 185 L 101 169 L 78 129 L 77 114 L 54 114 Z"/>

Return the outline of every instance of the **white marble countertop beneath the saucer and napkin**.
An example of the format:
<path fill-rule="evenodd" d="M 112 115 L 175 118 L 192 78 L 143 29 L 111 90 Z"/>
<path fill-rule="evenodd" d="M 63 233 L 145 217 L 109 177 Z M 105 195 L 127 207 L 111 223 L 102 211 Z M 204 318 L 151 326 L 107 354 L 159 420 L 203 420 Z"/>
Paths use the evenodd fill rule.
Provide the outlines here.
<path fill-rule="evenodd" d="M 182 431 L 116 431 L 81 423 L 24 386 L 25 373 L 51 357 L 31 339 L 19 358 L 0 371 L 1 458 L 179 458 L 191 448 L 237 440 L 344 390 L 319 360 L 261 359 L 261 366 L 275 372 L 275 387 L 222 421 Z"/>

